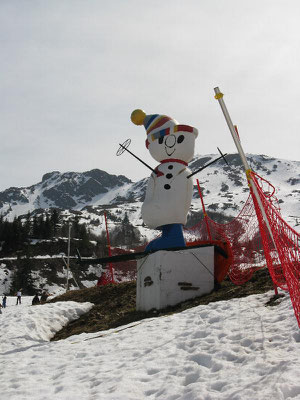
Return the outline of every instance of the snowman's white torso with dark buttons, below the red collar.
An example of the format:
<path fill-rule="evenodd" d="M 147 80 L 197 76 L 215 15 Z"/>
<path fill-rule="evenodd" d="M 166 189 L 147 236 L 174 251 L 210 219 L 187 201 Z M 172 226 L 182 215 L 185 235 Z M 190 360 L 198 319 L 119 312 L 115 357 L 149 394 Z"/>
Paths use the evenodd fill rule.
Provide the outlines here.
<path fill-rule="evenodd" d="M 191 170 L 176 161 L 165 162 L 152 173 L 142 205 L 142 218 L 149 228 L 167 224 L 186 224 L 192 195 L 193 181 L 187 176 Z"/>

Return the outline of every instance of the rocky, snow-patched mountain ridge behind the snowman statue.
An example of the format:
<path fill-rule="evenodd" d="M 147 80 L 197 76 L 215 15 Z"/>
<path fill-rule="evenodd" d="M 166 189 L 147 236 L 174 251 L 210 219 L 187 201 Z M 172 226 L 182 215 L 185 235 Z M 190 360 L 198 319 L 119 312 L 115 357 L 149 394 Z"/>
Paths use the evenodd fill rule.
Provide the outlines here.
<path fill-rule="evenodd" d="M 214 154 L 198 155 L 189 168 L 195 171 L 215 158 L 217 155 Z M 239 155 L 228 154 L 226 158 L 229 165 L 218 161 L 195 178 L 199 179 L 208 211 L 234 216 L 246 201 L 249 190 Z M 256 173 L 275 186 L 283 216 L 292 226 L 297 225 L 300 215 L 300 162 L 252 154 L 248 154 L 247 159 Z M 99 215 L 99 209 L 108 207 L 116 217 L 123 217 L 127 212 L 131 222 L 141 226 L 140 207 L 147 180 L 148 177 L 145 177 L 132 182 L 124 175 L 112 175 L 100 169 L 63 173 L 52 171 L 44 174 L 41 182 L 34 185 L 12 187 L 0 192 L 0 214 L 13 220 L 15 216 L 35 210 L 59 208 L 80 211 L 86 216 L 88 212 Z M 195 186 L 191 212 L 200 209 Z"/>

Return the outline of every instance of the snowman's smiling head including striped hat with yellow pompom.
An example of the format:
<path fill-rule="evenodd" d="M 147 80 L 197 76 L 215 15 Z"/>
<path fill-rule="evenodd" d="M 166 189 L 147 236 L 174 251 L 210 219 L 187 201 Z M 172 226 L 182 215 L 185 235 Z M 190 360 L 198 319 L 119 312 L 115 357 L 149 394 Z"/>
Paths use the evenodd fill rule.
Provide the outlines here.
<path fill-rule="evenodd" d="M 166 115 L 146 115 L 142 110 L 133 111 L 131 120 L 136 125 L 144 125 L 146 147 L 156 161 L 179 159 L 189 162 L 193 158 L 198 136 L 196 128 L 180 125 Z"/>

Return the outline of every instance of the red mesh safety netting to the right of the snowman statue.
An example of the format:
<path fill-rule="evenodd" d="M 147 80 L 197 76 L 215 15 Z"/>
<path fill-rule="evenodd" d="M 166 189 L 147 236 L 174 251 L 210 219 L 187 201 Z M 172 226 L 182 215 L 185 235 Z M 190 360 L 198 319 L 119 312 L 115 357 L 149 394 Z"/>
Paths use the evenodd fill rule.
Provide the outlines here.
<path fill-rule="evenodd" d="M 283 220 L 270 182 L 253 171 L 249 174 L 254 190 L 249 185 L 250 194 L 243 209 L 227 224 L 216 223 L 206 214 L 198 185 L 204 217 L 184 230 L 185 239 L 187 244 L 223 243 L 229 261 L 227 266 L 224 262 L 215 263 L 217 280 L 228 273 L 233 283 L 241 285 L 257 269 L 267 266 L 274 285 L 289 291 L 300 326 L 300 234 Z"/>

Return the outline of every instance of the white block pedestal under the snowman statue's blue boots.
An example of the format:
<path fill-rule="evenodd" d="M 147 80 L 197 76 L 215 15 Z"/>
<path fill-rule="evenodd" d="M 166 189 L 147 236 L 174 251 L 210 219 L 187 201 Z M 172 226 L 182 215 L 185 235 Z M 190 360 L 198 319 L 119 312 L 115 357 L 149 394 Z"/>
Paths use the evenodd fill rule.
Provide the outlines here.
<path fill-rule="evenodd" d="M 214 246 L 150 254 L 137 263 L 136 309 L 160 310 L 210 293 Z"/>

